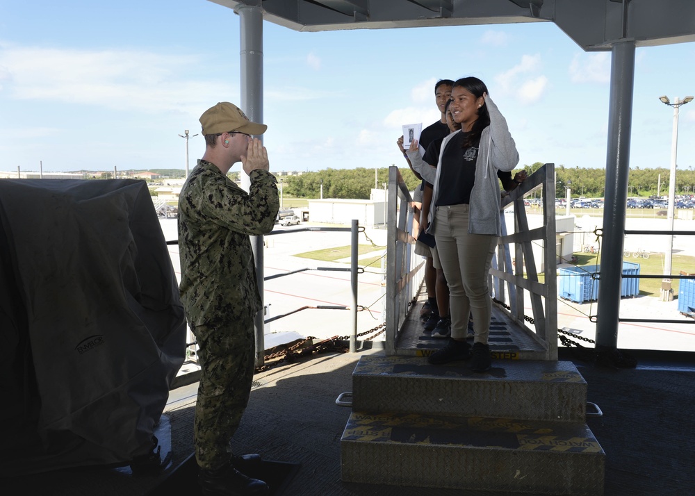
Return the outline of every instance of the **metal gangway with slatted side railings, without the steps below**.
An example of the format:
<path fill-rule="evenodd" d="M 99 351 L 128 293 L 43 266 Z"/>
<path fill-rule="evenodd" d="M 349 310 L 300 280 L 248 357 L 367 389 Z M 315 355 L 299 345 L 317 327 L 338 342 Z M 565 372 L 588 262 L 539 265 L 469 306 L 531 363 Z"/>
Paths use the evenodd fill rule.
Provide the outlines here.
<path fill-rule="evenodd" d="M 543 224 L 531 227 L 523 201 L 537 192 L 541 195 Z M 423 271 L 424 261 L 414 254 L 413 200 L 398 167 L 389 168 L 388 201 L 386 353 L 428 356 L 441 346 L 441 341 L 423 335 L 418 315 L 411 312 L 422 286 L 418 273 Z M 505 222 L 505 210 L 509 209 L 513 209 L 514 219 L 511 231 Z M 489 285 L 493 299 L 493 357 L 557 360 L 554 165 L 543 165 L 505 196 L 500 216 L 502 236 L 493 258 Z M 530 301 L 531 315 L 525 315 L 525 301 Z"/>

